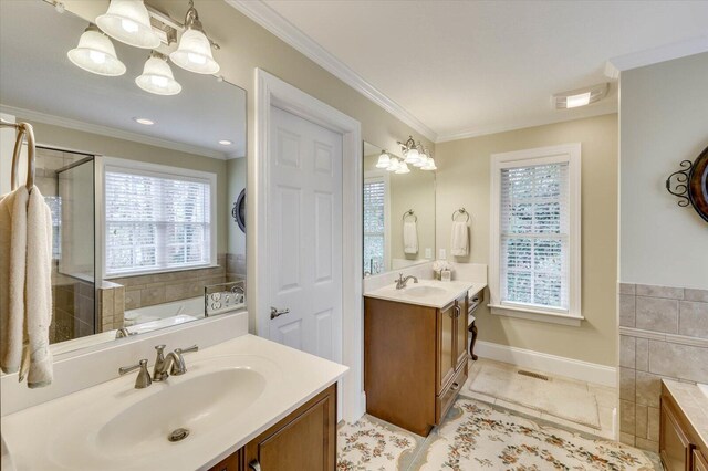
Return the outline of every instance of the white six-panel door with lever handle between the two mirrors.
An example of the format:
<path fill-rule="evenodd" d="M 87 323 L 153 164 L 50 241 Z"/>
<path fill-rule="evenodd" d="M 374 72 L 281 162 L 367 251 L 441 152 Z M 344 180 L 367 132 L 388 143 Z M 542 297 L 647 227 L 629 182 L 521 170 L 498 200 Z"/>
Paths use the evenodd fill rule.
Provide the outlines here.
<path fill-rule="evenodd" d="M 342 359 L 342 135 L 271 107 L 270 338 Z"/>

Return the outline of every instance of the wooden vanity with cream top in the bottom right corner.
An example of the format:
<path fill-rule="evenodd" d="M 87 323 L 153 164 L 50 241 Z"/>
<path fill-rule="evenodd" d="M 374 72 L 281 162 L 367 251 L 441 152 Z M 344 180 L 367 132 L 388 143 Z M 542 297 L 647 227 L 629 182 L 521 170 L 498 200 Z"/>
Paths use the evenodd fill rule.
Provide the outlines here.
<path fill-rule="evenodd" d="M 708 471 L 708 395 L 662 380 L 659 454 L 667 471 Z"/>

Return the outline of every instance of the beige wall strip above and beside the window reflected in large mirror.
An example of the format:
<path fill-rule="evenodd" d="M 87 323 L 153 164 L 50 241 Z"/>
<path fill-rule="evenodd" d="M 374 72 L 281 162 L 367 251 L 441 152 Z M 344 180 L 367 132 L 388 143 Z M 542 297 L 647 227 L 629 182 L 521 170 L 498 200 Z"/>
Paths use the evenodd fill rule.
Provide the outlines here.
<path fill-rule="evenodd" d="M 226 160 L 38 123 L 21 116 L 18 116 L 18 121 L 27 121 L 32 124 L 34 134 L 39 138 L 38 144 L 49 147 L 217 174 L 217 253 L 226 252 L 227 224 L 229 222 L 227 217 L 230 214 L 229 211 L 225 210 L 228 207 Z"/>

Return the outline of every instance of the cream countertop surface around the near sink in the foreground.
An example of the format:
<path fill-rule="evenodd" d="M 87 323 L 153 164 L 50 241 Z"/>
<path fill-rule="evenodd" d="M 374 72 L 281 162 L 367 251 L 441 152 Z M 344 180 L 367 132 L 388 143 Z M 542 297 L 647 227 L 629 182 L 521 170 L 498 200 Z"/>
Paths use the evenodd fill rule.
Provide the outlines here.
<path fill-rule="evenodd" d="M 348 369 L 253 335 L 189 354 L 185 360 L 185 375 L 153 383 L 146 389 L 135 389 L 135 374 L 129 374 L 3 417 L 2 438 L 17 470 L 207 469 L 334 384 Z M 114 447 L 111 453 L 101 448 L 104 425 L 119 419 L 131 406 L 165 388 L 206 376 L 215 365 L 233 368 L 233 362 L 238 368 L 257 370 L 266 378 L 262 393 L 248 407 L 212 417 L 208 430 L 195 426 L 191 435 L 177 443 L 165 439 L 154 447 Z M 187 405 L 200 397 L 184 400 Z M 160 410 L 159 400 L 156 405 L 156 416 L 169 417 L 169 411 Z M 205 409 L 205 414 L 218 412 Z M 149 416 L 152 420 L 153 414 Z"/>

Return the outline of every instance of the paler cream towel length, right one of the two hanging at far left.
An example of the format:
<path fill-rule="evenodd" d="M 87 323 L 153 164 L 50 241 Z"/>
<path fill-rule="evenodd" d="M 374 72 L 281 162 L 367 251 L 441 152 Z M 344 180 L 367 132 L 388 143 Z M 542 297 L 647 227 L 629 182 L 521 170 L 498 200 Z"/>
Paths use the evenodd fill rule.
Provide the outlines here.
<path fill-rule="evenodd" d="M 27 294 L 20 381 L 30 388 L 52 383 L 49 326 L 52 323 L 52 211 L 39 188 L 30 191 L 27 210 Z"/>

